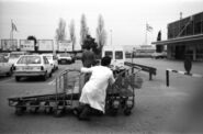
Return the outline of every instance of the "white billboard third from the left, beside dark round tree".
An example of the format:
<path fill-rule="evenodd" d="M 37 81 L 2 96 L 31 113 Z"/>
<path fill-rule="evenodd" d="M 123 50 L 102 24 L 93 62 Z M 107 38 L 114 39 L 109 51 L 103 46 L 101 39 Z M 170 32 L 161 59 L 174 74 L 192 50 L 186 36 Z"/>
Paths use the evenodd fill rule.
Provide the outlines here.
<path fill-rule="evenodd" d="M 38 40 L 38 51 L 53 51 L 54 42 L 53 40 Z"/>

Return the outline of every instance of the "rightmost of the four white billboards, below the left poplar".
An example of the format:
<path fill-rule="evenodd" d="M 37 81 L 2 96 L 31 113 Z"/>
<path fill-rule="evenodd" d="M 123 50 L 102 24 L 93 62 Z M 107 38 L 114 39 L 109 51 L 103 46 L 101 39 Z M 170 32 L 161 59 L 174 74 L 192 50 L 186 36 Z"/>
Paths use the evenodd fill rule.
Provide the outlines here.
<path fill-rule="evenodd" d="M 72 52 L 72 42 L 71 41 L 58 41 L 58 51 L 59 52 Z"/>

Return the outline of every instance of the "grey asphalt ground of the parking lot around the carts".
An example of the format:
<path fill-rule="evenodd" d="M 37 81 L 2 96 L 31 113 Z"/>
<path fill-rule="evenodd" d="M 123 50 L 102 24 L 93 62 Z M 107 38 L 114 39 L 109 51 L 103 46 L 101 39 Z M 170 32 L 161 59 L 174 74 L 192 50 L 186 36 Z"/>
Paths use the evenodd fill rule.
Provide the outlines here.
<path fill-rule="evenodd" d="M 132 59 L 127 59 L 132 62 Z M 14 114 L 8 105 L 9 97 L 50 93 L 55 91 L 54 79 L 68 68 L 79 68 L 81 62 L 59 65 L 59 69 L 46 81 L 24 79 L 20 82 L 14 77 L 0 78 L 0 133 L 201 133 L 203 87 L 202 78 L 193 78 L 170 72 L 170 86 L 166 86 L 166 69 L 184 70 L 183 62 L 151 58 L 134 58 L 134 63 L 157 68 L 153 80 L 148 74 L 143 88 L 135 91 L 135 108 L 132 115 L 93 116 L 90 122 L 78 121 L 72 114 L 54 118 L 45 113 Z M 192 74 L 203 75 L 203 63 L 193 63 Z"/>

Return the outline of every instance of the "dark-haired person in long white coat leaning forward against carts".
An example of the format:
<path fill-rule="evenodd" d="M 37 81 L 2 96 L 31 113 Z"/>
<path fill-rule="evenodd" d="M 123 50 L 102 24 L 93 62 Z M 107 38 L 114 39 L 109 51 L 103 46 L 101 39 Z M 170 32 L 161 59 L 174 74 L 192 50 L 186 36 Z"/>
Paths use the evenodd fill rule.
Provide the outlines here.
<path fill-rule="evenodd" d="M 112 70 L 109 68 L 111 57 L 103 57 L 101 65 L 90 68 L 82 67 L 81 72 L 91 74 L 89 81 L 82 88 L 79 102 L 81 105 L 74 112 L 79 120 L 90 120 L 91 111 L 103 114 L 105 112 L 106 88 L 115 79 Z"/>

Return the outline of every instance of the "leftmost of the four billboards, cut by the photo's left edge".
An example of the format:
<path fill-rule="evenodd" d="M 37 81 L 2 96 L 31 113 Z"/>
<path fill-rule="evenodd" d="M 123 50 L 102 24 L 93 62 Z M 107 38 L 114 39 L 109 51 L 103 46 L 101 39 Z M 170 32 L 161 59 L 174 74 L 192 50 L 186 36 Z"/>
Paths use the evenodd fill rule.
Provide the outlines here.
<path fill-rule="evenodd" d="M 18 40 L 1 40 L 0 49 L 1 51 L 16 51 Z"/>

